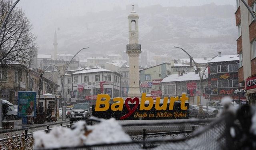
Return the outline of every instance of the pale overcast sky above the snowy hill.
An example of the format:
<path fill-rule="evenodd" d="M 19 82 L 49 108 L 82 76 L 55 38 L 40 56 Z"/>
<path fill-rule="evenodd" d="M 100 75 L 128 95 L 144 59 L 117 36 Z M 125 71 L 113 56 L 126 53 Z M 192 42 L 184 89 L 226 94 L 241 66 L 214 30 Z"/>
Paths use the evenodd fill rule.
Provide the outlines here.
<path fill-rule="evenodd" d="M 85 16 L 86 12 L 113 10 L 113 8 L 117 6 L 121 9 L 125 9 L 127 5 L 131 4 L 146 7 L 156 4 L 162 6 L 201 6 L 210 3 L 235 6 L 236 0 L 20 0 L 17 7 L 25 11 L 33 25 L 34 34 L 42 41 L 42 38 L 44 38 L 41 37 L 42 26 L 50 25 L 49 30 L 54 30 L 54 28 L 58 29 L 60 25 L 55 21 L 57 18 Z M 54 24 L 54 26 L 52 26 L 52 24 Z M 54 35 L 54 31 L 52 31 L 52 34 Z M 39 41 L 37 42 L 39 48 L 44 47 L 42 44 L 46 44 L 40 43 Z M 52 43 L 47 44 L 52 46 Z"/>

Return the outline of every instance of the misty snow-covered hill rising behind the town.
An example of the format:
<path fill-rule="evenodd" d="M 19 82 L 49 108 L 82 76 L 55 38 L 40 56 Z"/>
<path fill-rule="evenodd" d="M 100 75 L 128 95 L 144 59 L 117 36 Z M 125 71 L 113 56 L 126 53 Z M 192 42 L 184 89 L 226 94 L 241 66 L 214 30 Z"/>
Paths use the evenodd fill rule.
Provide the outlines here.
<path fill-rule="evenodd" d="M 130 7 L 129 7 L 130 8 Z M 213 57 L 221 51 L 236 54 L 238 30 L 235 26 L 235 8 L 231 5 L 207 4 L 193 7 L 162 7 L 160 5 L 135 8 L 139 19 L 139 43 L 142 50 L 155 54 L 186 57 L 179 46 L 193 57 Z M 75 53 L 90 46 L 91 54 L 121 54 L 128 44 L 128 19 L 131 9 L 87 13 L 73 18 L 59 18 L 58 52 Z M 40 49 L 53 49 L 53 31 L 42 28 L 38 43 L 50 43 Z M 40 36 L 48 37 L 42 40 Z M 40 46 L 40 44 L 39 44 Z M 39 51 L 39 53 L 42 53 Z"/>

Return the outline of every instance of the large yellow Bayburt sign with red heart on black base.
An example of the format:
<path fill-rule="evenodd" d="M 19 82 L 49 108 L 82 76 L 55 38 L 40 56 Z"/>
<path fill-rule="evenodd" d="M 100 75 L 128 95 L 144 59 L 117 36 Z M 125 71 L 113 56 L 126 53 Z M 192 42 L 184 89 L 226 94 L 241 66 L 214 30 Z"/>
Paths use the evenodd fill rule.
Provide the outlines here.
<path fill-rule="evenodd" d="M 142 93 L 141 102 L 138 97 L 135 98 L 114 98 L 113 104 L 110 104 L 108 94 L 98 94 L 96 104 L 92 105 L 92 115 L 98 118 L 116 120 L 154 120 L 154 119 L 188 119 L 189 104 L 186 103 L 188 97 L 182 94 L 177 97 L 164 97 L 163 104 L 160 104 L 160 97 L 156 98 L 156 103 L 152 97 L 146 97 Z M 170 103 L 168 103 L 170 100 Z M 174 103 L 180 100 L 180 103 Z"/>

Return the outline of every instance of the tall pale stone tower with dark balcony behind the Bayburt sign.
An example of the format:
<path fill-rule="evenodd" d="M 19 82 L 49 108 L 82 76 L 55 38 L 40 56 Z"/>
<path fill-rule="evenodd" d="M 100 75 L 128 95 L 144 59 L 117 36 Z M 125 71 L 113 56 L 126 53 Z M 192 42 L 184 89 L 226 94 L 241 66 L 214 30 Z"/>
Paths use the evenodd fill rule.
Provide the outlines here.
<path fill-rule="evenodd" d="M 138 44 L 138 19 L 137 12 L 134 11 L 132 5 L 132 12 L 128 16 L 129 22 L 129 44 L 126 45 L 126 53 L 129 56 L 129 92 L 128 97 L 141 97 L 139 84 L 139 55 L 141 53 L 141 45 Z"/>

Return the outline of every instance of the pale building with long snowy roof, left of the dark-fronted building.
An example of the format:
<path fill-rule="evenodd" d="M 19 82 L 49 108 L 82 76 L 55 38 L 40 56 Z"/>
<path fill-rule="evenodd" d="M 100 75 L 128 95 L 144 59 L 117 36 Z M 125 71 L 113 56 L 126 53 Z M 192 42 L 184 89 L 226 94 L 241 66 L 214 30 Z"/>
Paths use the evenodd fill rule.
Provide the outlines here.
<path fill-rule="evenodd" d="M 203 86 L 207 85 L 208 75 L 203 77 Z M 200 104 L 200 77 L 198 71 L 179 72 L 171 74 L 162 80 L 162 96 L 181 96 L 185 93 L 189 97 L 190 104 Z M 201 104 L 206 106 L 204 93 L 202 92 Z"/>

